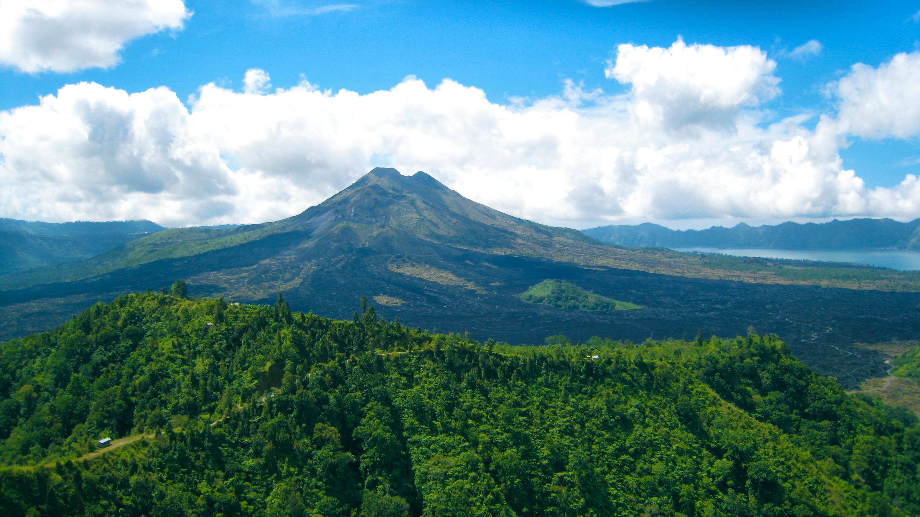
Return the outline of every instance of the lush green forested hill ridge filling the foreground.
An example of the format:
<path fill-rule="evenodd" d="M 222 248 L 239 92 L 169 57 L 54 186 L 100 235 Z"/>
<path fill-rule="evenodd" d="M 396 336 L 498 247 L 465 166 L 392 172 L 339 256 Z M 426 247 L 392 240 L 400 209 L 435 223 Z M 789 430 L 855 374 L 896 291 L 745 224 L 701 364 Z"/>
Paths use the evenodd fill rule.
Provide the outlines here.
<path fill-rule="evenodd" d="M 9 516 L 920 513 L 916 420 L 770 336 L 519 348 L 131 294 L 2 345 L 0 419 Z"/>

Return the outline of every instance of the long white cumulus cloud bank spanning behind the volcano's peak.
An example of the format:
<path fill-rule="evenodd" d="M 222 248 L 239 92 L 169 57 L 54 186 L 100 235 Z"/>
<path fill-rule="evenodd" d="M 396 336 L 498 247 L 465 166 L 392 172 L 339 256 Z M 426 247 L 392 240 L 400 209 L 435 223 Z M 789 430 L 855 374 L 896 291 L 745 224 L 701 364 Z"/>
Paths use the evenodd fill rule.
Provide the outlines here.
<path fill-rule="evenodd" d="M 839 112 L 814 129 L 807 115 L 768 119 L 762 103 L 779 89 L 764 52 L 680 40 L 621 46 L 608 66 L 628 87 L 621 95 L 567 81 L 556 96 L 497 103 L 475 86 L 411 76 L 363 95 L 306 81 L 268 92 L 259 69 L 243 91 L 209 84 L 187 105 L 167 88 L 64 86 L 0 112 L 0 216 L 256 223 L 391 166 L 429 172 L 507 213 L 576 227 L 916 217 L 916 177 L 869 189 L 838 153 L 849 134 L 916 133 L 900 122 L 880 133 L 842 129 L 878 103 L 872 91 L 888 91 L 873 78 L 909 57 L 855 67 L 832 88 Z"/>

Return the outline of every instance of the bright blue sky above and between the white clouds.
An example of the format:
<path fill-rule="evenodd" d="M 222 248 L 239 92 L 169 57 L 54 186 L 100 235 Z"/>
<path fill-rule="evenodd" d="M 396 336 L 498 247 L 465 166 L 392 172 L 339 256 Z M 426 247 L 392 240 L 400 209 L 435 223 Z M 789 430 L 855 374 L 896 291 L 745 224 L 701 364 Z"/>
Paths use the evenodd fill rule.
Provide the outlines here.
<path fill-rule="evenodd" d="M 116 65 L 69 73 L 0 69 L 0 109 L 35 105 L 40 96 L 84 81 L 129 93 L 167 86 L 191 109 L 189 98 L 201 86 L 239 91 L 253 68 L 268 73 L 273 87 L 293 87 L 305 78 L 324 90 L 362 95 L 393 88 L 408 75 L 430 87 L 450 78 L 481 88 L 499 105 L 558 96 L 566 80 L 586 91 L 627 95 L 630 84 L 604 75 L 617 45 L 667 48 L 680 36 L 687 44 L 755 47 L 776 63 L 773 75 L 782 93 L 757 106 L 757 125 L 765 127 L 784 117 L 833 110 L 825 86 L 852 65 L 878 67 L 920 45 L 916 2 L 652 0 L 596 7 L 575 0 L 342 5 L 190 0 L 185 5 L 193 15 L 181 29 L 127 40 Z M 793 55 L 812 40 L 820 42 L 820 52 Z M 814 129 L 817 121 L 813 117 L 801 126 Z M 920 173 L 915 135 L 850 135 L 839 155 L 868 189 L 893 187 L 906 174 Z"/>

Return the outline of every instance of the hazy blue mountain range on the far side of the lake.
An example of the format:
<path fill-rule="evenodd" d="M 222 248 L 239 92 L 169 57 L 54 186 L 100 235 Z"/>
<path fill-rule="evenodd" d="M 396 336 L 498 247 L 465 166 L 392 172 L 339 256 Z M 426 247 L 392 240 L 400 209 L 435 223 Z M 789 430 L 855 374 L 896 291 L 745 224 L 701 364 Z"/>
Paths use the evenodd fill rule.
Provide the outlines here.
<path fill-rule="evenodd" d="M 583 230 L 602 242 L 629 247 L 762 247 L 775 249 L 918 249 L 920 219 L 834 219 L 823 224 L 783 223 L 706 230 L 672 230 L 659 224 L 609 225 Z"/>

